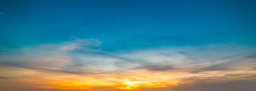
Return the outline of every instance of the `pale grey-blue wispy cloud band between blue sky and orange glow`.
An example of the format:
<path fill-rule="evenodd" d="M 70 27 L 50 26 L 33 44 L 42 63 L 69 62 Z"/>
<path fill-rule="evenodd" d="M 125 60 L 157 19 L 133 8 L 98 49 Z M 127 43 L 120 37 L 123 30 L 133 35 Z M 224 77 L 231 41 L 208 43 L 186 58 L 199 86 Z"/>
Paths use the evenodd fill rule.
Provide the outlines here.
<path fill-rule="evenodd" d="M 102 43 L 97 39 L 71 37 L 75 40 L 10 50 L 0 56 L 3 59 L 0 65 L 69 74 L 100 74 L 126 69 L 208 74 L 236 70 L 233 65 L 252 62 L 246 59 L 251 55 L 250 47 L 236 44 L 232 48 L 232 44 L 217 44 L 107 52 L 93 48 Z"/>

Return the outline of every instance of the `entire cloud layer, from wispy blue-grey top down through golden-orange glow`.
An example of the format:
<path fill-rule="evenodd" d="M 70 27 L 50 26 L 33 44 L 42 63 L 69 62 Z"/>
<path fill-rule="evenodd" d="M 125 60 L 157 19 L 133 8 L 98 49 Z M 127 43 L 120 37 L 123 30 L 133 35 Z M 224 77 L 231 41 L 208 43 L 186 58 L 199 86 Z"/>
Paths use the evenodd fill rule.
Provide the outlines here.
<path fill-rule="evenodd" d="M 255 47 L 247 45 L 169 46 L 108 52 L 100 49 L 102 41 L 98 39 L 71 37 L 74 38 L 71 41 L 38 44 L 1 53 L 0 67 L 5 69 L 1 69 L 4 73 L 0 75 L 26 82 L 52 82 L 50 86 L 41 85 L 44 88 L 79 90 L 154 88 L 193 83 L 200 79 L 255 79 L 255 70 L 251 70 L 256 64 L 255 58 L 251 57 Z M 230 75 L 244 72 L 247 75 Z"/>

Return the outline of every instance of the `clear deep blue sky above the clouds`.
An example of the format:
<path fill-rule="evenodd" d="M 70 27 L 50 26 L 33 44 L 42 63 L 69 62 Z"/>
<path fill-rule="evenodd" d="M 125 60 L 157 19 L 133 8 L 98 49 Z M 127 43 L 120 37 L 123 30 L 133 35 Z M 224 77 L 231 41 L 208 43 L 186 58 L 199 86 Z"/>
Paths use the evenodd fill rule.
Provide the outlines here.
<path fill-rule="evenodd" d="M 99 39 L 102 50 L 256 45 L 255 0 L 1 0 L 0 47 Z"/>

